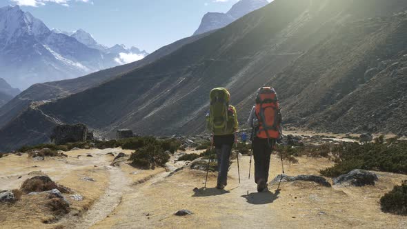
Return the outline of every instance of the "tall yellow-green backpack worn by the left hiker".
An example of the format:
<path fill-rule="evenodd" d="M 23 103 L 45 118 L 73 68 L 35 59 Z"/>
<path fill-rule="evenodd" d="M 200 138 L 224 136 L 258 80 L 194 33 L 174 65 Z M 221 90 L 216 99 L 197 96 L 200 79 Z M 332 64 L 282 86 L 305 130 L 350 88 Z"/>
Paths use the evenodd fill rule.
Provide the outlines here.
<path fill-rule="evenodd" d="M 234 114 L 230 113 L 230 94 L 226 88 L 214 88 L 210 91 L 210 109 L 208 128 L 214 135 L 228 135 L 233 133 Z"/>

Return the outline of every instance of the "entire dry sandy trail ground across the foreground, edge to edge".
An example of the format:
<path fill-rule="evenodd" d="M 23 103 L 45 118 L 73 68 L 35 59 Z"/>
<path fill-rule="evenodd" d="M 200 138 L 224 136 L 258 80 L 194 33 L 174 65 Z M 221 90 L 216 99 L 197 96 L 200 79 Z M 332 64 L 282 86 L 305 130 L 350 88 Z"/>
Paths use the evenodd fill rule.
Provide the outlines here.
<path fill-rule="evenodd" d="M 203 188 L 206 172 L 191 170 L 171 157 L 167 169 L 139 170 L 125 160 L 110 166 L 113 152 L 130 151 L 75 150 L 66 160 L 32 161 L 26 156 L 10 155 L 0 159 L 0 186 L 18 188 L 32 170 L 46 173 L 52 179 L 84 197 L 70 199 L 72 210 L 65 217 L 43 224 L 21 217 L 25 228 L 406 228 L 407 218 L 381 212 L 379 199 L 406 175 L 376 172 L 375 186 L 332 186 L 326 188 L 310 181 L 270 184 L 269 192 L 258 193 L 253 179 L 248 179 L 249 157 L 232 163 L 225 190 L 217 190 L 216 174 L 210 173 L 208 188 Z M 193 152 L 193 151 L 190 151 Z M 188 152 L 189 153 L 189 152 Z M 78 157 L 81 155 L 80 157 Z M 92 157 L 86 157 L 92 155 Z M 7 159 L 7 161 L 6 161 Z M 332 166 L 324 158 L 299 157 L 299 163 L 284 162 L 286 174 L 319 175 L 319 170 Z M 32 166 L 38 166 L 33 168 Z M 185 168 L 178 170 L 177 168 Z M 13 168 L 13 169 L 10 169 Z M 53 169 L 52 169 L 53 168 Z M 31 172 L 30 172 L 31 171 Z M 39 171 L 38 171 L 39 172 Z M 252 167 L 252 172 L 254 172 Z M 32 174 L 32 173 L 31 173 Z M 272 156 L 269 181 L 281 174 L 281 163 Z M 91 177 L 95 181 L 83 181 Z M 254 174 L 251 175 L 254 177 Z M 17 179 L 17 181 L 14 181 Z M 12 181 L 13 180 L 13 181 Z M 330 183 L 332 181 L 328 179 Z M 21 201 L 20 201 L 21 202 Z M 17 208 L 17 207 L 16 207 Z M 21 207 L 22 208 L 22 207 Z M 178 210 L 192 215 L 176 216 Z M 8 209 L 14 211 L 17 209 Z M 0 212 L 2 209 L 0 208 Z M 21 214 L 25 212 L 21 210 Z M 1 219 L 0 228 L 15 228 L 13 218 Z M 14 218 L 15 219 L 15 218 Z M 38 221 L 38 219 L 37 219 Z M 14 223 L 14 224 L 13 224 Z M 12 226 L 11 226 L 12 225 Z M 17 226 L 18 228 L 18 226 Z"/>

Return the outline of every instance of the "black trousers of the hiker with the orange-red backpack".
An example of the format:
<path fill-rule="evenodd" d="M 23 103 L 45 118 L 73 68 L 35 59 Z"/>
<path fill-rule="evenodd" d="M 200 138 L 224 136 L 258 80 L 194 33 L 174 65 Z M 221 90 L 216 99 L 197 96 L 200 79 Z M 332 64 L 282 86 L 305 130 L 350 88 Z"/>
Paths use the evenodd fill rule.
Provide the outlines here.
<path fill-rule="evenodd" d="M 270 143 L 269 143 L 270 142 Z M 253 156 L 255 157 L 255 182 L 261 179 L 268 182 L 268 170 L 270 169 L 270 156 L 275 139 L 259 139 L 255 137 L 252 141 Z"/>

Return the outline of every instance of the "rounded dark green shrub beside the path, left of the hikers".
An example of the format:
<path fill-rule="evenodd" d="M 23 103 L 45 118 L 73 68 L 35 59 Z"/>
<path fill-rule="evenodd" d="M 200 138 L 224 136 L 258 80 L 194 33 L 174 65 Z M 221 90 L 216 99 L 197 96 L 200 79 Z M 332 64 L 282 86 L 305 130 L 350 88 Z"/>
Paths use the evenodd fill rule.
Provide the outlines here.
<path fill-rule="evenodd" d="M 133 152 L 130 156 L 132 166 L 154 169 L 156 166 L 165 166 L 170 155 L 164 152 L 163 148 L 157 144 L 148 144 Z"/>

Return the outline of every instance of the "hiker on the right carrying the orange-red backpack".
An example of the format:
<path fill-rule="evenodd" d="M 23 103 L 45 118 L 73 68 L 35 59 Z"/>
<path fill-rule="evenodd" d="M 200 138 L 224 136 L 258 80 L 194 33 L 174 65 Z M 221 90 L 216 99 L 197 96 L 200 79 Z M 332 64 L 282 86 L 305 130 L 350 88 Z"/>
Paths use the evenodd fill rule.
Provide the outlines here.
<path fill-rule="evenodd" d="M 274 88 L 259 88 L 248 126 L 252 127 L 252 153 L 255 157 L 257 191 L 267 190 L 270 156 L 277 139 L 281 137 L 281 112 Z"/>

